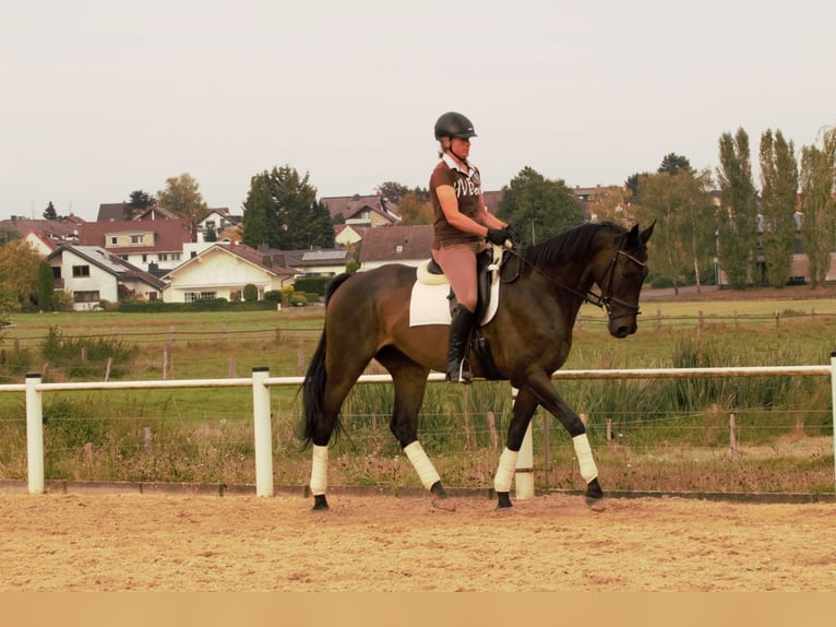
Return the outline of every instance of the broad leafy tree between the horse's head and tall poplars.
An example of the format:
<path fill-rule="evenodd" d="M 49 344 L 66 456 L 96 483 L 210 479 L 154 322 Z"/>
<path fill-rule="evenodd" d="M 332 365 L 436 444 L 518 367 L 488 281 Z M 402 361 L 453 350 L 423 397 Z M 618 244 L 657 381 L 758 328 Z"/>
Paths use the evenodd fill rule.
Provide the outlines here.
<path fill-rule="evenodd" d="M 638 212 L 642 220 L 656 221 L 654 271 L 679 286 L 693 272 L 697 292 L 701 275 L 714 257 L 714 202 L 712 178 L 706 170 L 680 169 L 641 178 Z"/>

